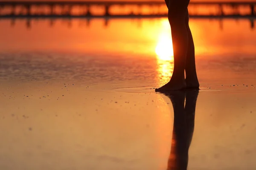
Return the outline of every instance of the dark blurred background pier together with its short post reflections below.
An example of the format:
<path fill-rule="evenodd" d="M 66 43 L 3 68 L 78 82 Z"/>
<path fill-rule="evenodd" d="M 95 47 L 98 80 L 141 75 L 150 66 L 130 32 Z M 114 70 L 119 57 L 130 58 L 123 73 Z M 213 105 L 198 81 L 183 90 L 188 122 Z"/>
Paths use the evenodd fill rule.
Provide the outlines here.
<path fill-rule="evenodd" d="M 196 8 L 215 8 L 215 12 L 201 14 Z M 100 13 L 95 10 L 100 8 Z M 113 8 L 125 8 L 126 12 L 113 12 Z M 137 9 L 136 10 L 134 10 Z M 143 12 L 143 8 L 148 8 L 148 12 Z M 158 8 L 157 11 L 153 10 Z M 229 9 L 227 12 L 225 9 Z M 242 12 L 239 8 L 246 8 Z M 43 10 L 42 10 L 43 9 Z M 152 9 L 152 10 L 151 10 Z M 164 9 L 164 10 L 163 10 Z M 193 9 L 193 10 L 190 10 Z M 75 12 L 74 12 L 75 11 Z M 96 11 L 96 12 L 95 12 Z M 125 10 L 124 10 L 125 11 Z M 127 12 L 128 11 L 128 12 Z M 167 17 L 167 8 L 164 0 L 159 1 L 12 1 L 0 0 L 0 20 L 1 19 L 72 19 L 81 18 L 90 21 L 94 18 L 103 18 L 106 25 L 109 19 L 114 18 L 163 18 Z M 189 3 L 189 17 L 195 19 L 247 19 L 250 20 L 251 28 L 254 28 L 256 20 L 256 0 L 240 2 L 223 1 L 200 1 Z"/>

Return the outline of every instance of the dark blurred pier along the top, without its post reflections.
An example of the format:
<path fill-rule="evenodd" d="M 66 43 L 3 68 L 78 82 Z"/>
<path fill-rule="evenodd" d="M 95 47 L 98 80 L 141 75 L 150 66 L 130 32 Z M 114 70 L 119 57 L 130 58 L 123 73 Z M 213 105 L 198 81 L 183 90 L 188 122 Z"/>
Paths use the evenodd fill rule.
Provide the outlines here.
<path fill-rule="evenodd" d="M 95 6 L 104 7 L 103 14 L 94 14 L 91 8 Z M 111 14 L 111 8 L 113 6 L 119 6 L 120 8 L 131 8 L 129 14 Z M 166 11 L 159 11 L 157 14 L 134 14 L 132 7 L 163 7 L 165 6 L 164 0 L 161 1 L 137 1 L 137 2 L 125 2 L 125 1 L 12 1 L 12 0 L 0 0 L 0 18 L 45 18 L 45 17 L 166 17 Z M 216 6 L 218 8 L 217 14 L 191 14 L 191 17 L 256 17 L 256 1 L 241 2 L 191 2 L 192 6 Z M 240 14 L 237 7 L 245 6 L 250 9 L 247 14 Z M 82 11 L 79 14 L 73 14 L 73 8 L 79 8 Z M 225 14 L 224 7 L 233 8 L 232 14 Z M 6 12 L 6 8 L 9 10 Z M 35 10 L 32 10 L 34 8 Z M 39 9 L 47 8 L 45 11 Z M 60 8 L 61 12 L 56 12 L 56 8 Z M 40 12 L 39 12 L 40 11 Z"/>

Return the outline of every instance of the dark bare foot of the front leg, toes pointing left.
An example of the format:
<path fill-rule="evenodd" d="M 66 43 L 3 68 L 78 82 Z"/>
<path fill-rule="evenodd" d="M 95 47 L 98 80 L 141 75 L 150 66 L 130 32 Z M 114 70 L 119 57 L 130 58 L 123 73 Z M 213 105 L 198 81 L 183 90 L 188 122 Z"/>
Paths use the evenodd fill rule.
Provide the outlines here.
<path fill-rule="evenodd" d="M 185 80 L 181 81 L 174 81 L 171 79 L 166 85 L 163 85 L 160 88 L 156 88 L 156 92 L 166 92 L 166 91 L 177 91 L 177 90 L 183 90 L 186 88 L 186 82 Z"/>

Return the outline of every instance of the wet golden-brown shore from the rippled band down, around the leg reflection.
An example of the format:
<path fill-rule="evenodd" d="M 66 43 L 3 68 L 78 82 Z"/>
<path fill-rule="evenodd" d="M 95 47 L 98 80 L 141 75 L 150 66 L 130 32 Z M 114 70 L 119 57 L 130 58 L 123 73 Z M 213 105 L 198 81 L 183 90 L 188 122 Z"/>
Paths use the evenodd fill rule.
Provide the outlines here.
<path fill-rule="evenodd" d="M 174 114 L 170 99 L 154 92 L 156 61 L 61 56 L 1 55 L 1 169 L 166 169 Z M 197 64 L 188 169 L 256 168 L 256 76 Z"/>

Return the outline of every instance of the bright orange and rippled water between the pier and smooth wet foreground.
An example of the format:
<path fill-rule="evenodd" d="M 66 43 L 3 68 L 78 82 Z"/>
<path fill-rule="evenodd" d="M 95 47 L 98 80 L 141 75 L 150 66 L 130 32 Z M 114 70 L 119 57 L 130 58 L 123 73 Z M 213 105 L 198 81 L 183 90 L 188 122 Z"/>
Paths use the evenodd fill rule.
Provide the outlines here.
<path fill-rule="evenodd" d="M 110 20 L 107 27 L 104 20 L 92 20 L 89 27 L 86 20 L 56 20 L 52 27 L 49 20 L 32 20 L 31 28 L 25 20 L 15 21 L 15 26 L 11 22 L 0 22 L 1 79 L 93 82 L 96 77 L 155 85 L 171 76 L 172 40 L 166 19 Z M 224 20 L 222 25 L 217 20 L 190 21 L 199 77 L 254 77 L 256 30 L 247 20 Z"/>

